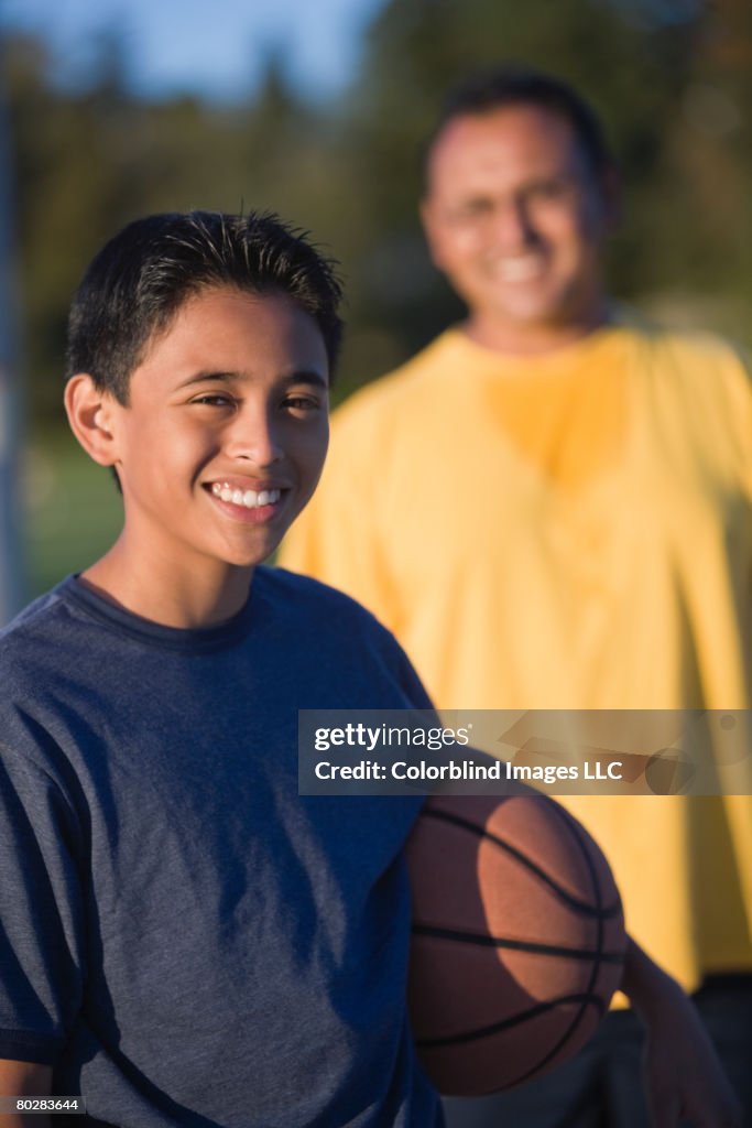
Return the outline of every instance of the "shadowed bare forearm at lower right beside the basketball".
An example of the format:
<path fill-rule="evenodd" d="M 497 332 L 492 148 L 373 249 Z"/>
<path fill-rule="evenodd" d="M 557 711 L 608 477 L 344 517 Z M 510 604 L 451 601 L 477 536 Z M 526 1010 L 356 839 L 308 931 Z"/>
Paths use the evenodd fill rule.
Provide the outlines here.
<path fill-rule="evenodd" d="M 647 1028 L 645 1090 L 655 1128 L 742 1128 L 741 1105 L 691 999 L 634 940 L 621 989 Z"/>

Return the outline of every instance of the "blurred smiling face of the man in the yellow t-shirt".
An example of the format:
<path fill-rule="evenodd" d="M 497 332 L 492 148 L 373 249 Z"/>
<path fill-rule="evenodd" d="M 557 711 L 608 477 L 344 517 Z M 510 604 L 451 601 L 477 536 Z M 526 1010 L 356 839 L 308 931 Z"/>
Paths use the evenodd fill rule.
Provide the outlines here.
<path fill-rule="evenodd" d="M 434 142 L 423 220 L 470 320 L 520 342 L 602 306 L 607 186 L 569 123 L 537 106 L 451 118 Z"/>

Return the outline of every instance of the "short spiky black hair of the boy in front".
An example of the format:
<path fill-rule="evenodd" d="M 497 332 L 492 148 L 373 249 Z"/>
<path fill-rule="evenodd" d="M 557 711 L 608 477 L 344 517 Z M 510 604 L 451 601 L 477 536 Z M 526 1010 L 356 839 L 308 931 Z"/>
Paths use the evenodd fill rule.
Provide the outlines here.
<path fill-rule="evenodd" d="M 287 294 L 317 323 L 334 368 L 342 287 L 333 261 L 274 214 L 194 211 L 135 220 L 95 256 L 71 305 L 67 378 L 88 372 L 126 405 L 154 334 L 214 288 Z"/>

